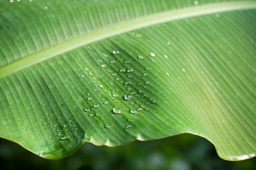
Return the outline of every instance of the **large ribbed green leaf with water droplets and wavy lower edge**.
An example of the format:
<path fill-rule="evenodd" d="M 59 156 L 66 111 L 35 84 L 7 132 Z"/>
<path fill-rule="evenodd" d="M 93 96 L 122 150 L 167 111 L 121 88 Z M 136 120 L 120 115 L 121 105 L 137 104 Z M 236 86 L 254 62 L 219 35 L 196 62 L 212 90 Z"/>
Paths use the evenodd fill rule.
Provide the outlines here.
<path fill-rule="evenodd" d="M 192 133 L 254 157 L 255 16 L 255 0 L 2 0 L 0 137 L 59 159 Z"/>

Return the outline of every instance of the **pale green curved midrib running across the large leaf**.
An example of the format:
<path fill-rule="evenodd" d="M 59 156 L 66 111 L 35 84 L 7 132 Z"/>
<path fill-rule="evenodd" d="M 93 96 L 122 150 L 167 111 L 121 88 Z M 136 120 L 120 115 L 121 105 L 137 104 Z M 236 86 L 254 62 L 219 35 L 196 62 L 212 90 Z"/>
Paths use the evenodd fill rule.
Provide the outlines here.
<path fill-rule="evenodd" d="M 207 5 L 193 6 L 139 17 L 134 20 L 129 20 L 125 23 L 115 24 L 114 26 L 102 28 L 100 30 L 93 31 L 92 33 L 84 34 L 80 37 L 76 37 L 61 42 L 58 45 L 46 48 L 42 51 L 38 51 L 35 54 L 23 57 L 21 59 L 16 60 L 15 62 L 11 62 L 8 65 L 5 65 L 2 68 L 0 68 L 0 78 L 6 77 L 9 74 L 15 73 L 16 71 L 20 71 L 23 68 L 27 68 L 31 65 L 34 65 L 38 62 L 44 61 L 51 57 L 55 57 L 59 54 L 63 54 L 67 51 L 73 50 L 83 45 L 87 45 L 91 42 L 102 40 L 104 38 L 111 37 L 134 29 L 139 29 L 158 23 L 164 23 L 188 17 L 253 8 L 256 8 L 256 2 L 253 1 L 212 3 Z"/>

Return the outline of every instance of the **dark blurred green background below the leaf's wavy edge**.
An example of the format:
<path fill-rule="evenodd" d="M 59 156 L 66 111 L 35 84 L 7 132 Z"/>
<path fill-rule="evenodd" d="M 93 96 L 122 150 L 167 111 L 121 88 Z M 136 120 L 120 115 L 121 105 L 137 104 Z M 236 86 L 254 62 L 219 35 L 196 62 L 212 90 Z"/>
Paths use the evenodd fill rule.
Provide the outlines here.
<path fill-rule="evenodd" d="M 206 139 L 181 134 L 134 141 L 118 147 L 84 144 L 71 156 L 47 160 L 20 145 L 0 139 L 0 169 L 49 170 L 256 170 L 256 158 L 225 161 Z"/>

